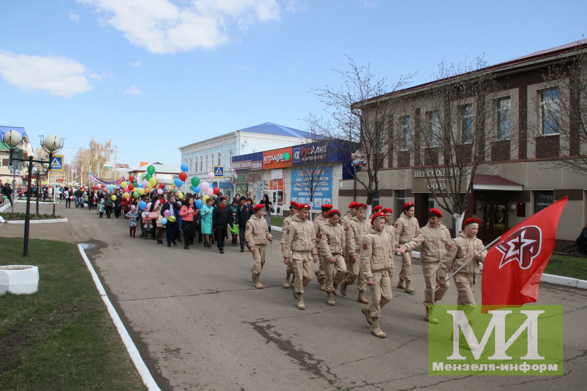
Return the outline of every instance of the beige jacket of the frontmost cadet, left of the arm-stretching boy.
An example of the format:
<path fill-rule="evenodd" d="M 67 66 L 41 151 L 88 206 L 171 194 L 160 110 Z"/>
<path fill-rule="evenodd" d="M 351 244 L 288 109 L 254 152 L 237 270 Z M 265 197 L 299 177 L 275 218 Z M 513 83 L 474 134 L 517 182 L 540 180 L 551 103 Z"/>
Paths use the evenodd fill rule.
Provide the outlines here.
<path fill-rule="evenodd" d="M 365 280 L 373 278 L 373 271 L 389 270 L 393 272 L 393 239 L 385 230 L 378 232 L 370 228 L 361 242 L 361 273 Z"/>

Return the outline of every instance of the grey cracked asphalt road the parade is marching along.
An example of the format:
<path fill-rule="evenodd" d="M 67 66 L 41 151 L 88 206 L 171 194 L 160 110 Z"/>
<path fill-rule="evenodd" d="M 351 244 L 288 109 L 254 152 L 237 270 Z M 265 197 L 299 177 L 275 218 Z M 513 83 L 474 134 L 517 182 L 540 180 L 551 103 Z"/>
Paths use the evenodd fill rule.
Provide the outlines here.
<path fill-rule="evenodd" d="M 24 210 L 24 203 L 17 205 Z M 41 212 L 50 208 L 42 205 Z M 268 246 L 265 288 L 257 290 L 251 254 L 230 242 L 225 254 L 198 245 L 184 250 L 181 243 L 167 248 L 130 238 L 124 219 L 99 219 L 63 204 L 58 214 L 70 221 L 31 225 L 31 236 L 95 245 L 87 255 L 164 390 L 585 389 L 587 291 L 549 284 L 539 290 L 539 304 L 564 305 L 565 375 L 429 376 L 419 264 L 416 294 L 393 288 L 380 320 L 387 338 L 378 339 L 355 301 L 356 285 L 330 307 L 314 278 L 304 294 L 306 310 L 298 310 L 291 290 L 282 287 L 278 243 Z M 0 236 L 22 232 L 22 225 L 0 225 Z M 456 303 L 454 286 L 445 302 Z"/>

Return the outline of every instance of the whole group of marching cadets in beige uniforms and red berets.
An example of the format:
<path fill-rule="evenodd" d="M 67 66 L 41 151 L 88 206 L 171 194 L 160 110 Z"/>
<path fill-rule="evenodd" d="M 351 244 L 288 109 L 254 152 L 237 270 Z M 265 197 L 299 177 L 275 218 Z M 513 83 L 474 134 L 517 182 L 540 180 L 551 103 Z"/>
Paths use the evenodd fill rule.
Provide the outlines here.
<path fill-rule="evenodd" d="M 253 256 L 252 280 L 256 288 L 263 288 L 261 271 L 265 264 L 265 245 L 273 243 L 266 220 L 263 218 L 263 204 L 254 207 L 255 215 L 249 219 L 245 229 L 245 240 Z M 424 320 L 437 324 L 434 317 L 434 302 L 441 300 L 449 283 L 448 272 L 457 270 L 465 261 L 473 261 L 454 276 L 457 287 L 457 305 L 472 308 L 475 279 L 479 263 L 487 251 L 477 239 L 481 220 L 467 219 L 465 230 L 451 239 L 446 225 L 441 222 L 443 214 L 436 208 L 428 211 L 428 223 L 420 227 L 414 217 L 414 203 L 403 206 L 402 215 L 392 224 L 393 210 L 376 206 L 373 214 L 366 219 L 367 205 L 352 202 L 345 216 L 332 205 L 322 205 L 313 222 L 309 220 L 311 206 L 291 202 L 290 215 L 282 225 L 281 251 L 286 265 L 285 288 L 292 288 L 300 310 L 305 310 L 303 288 L 312 280 L 312 263 L 319 262 L 318 277 L 320 289 L 327 294 L 328 305 L 335 305 L 334 297 L 346 296 L 348 285 L 357 281 L 357 301 L 366 304 L 361 312 L 371 326 L 371 333 L 379 338 L 386 334 L 379 328 L 381 310 L 392 300 L 391 279 L 394 272 L 393 256 L 401 254 L 402 266 L 398 288 L 414 293 L 411 286 L 411 251 L 420 247 L 420 261 L 424 276 Z M 370 300 L 365 297 L 367 286 Z M 436 287 L 438 289 L 435 291 Z"/>

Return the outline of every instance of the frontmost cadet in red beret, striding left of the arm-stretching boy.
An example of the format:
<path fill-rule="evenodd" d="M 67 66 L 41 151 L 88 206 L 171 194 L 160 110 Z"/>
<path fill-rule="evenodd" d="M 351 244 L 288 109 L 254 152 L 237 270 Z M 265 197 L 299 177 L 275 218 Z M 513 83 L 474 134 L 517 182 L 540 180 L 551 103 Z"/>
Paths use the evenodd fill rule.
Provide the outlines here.
<path fill-rule="evenodd" d="M 377 212 L 371 219 L 372 227 L 362 240 L 360 249 L 361 275 L 367 281 L 371 291 L 370 304 L 361 308 L 367 323 L 371 325 L 371 334 L 385 338 L 386 334 L 379 328 L 381 309 L 392 300 L 393 252 L 396 249 L 393 235 L 385 229 L 385 213 Z"/>

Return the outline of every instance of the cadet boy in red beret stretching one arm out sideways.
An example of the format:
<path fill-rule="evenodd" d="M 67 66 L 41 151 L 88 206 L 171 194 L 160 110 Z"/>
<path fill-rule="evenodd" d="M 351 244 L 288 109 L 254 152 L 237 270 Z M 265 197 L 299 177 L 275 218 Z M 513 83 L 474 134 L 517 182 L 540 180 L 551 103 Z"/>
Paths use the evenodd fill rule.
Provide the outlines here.
<path fill-rule="evenodd" d="M 434 301 L 441 300 L 448 289 L 448 281 L 444 287 L 441 287 L 434 294 L 434 288 L 438 284 L 438 264 L 443 259 L 444 253 L 450 242 L 450 232 L 446 225 L 440 221 L 442 213 L 436 208 L 428 210 L 428 224 L 421 227 L 414 239 L 410 242 L 400 246 L 400 253 L 412 251 L 416 247 L 421 246 L 420 261 L 422 263 L 422 272 L 424 274 L 424 282 L 426 282 L 426 289 L 424 289 L 424 306 L 426 306 L 425 321 L 438 324 L 438 319 L 434 317 L 433 311 L 429 309 L 429 305 L 433 305 Z M 429 311 L 430 310 L 430 311 Z"/>

